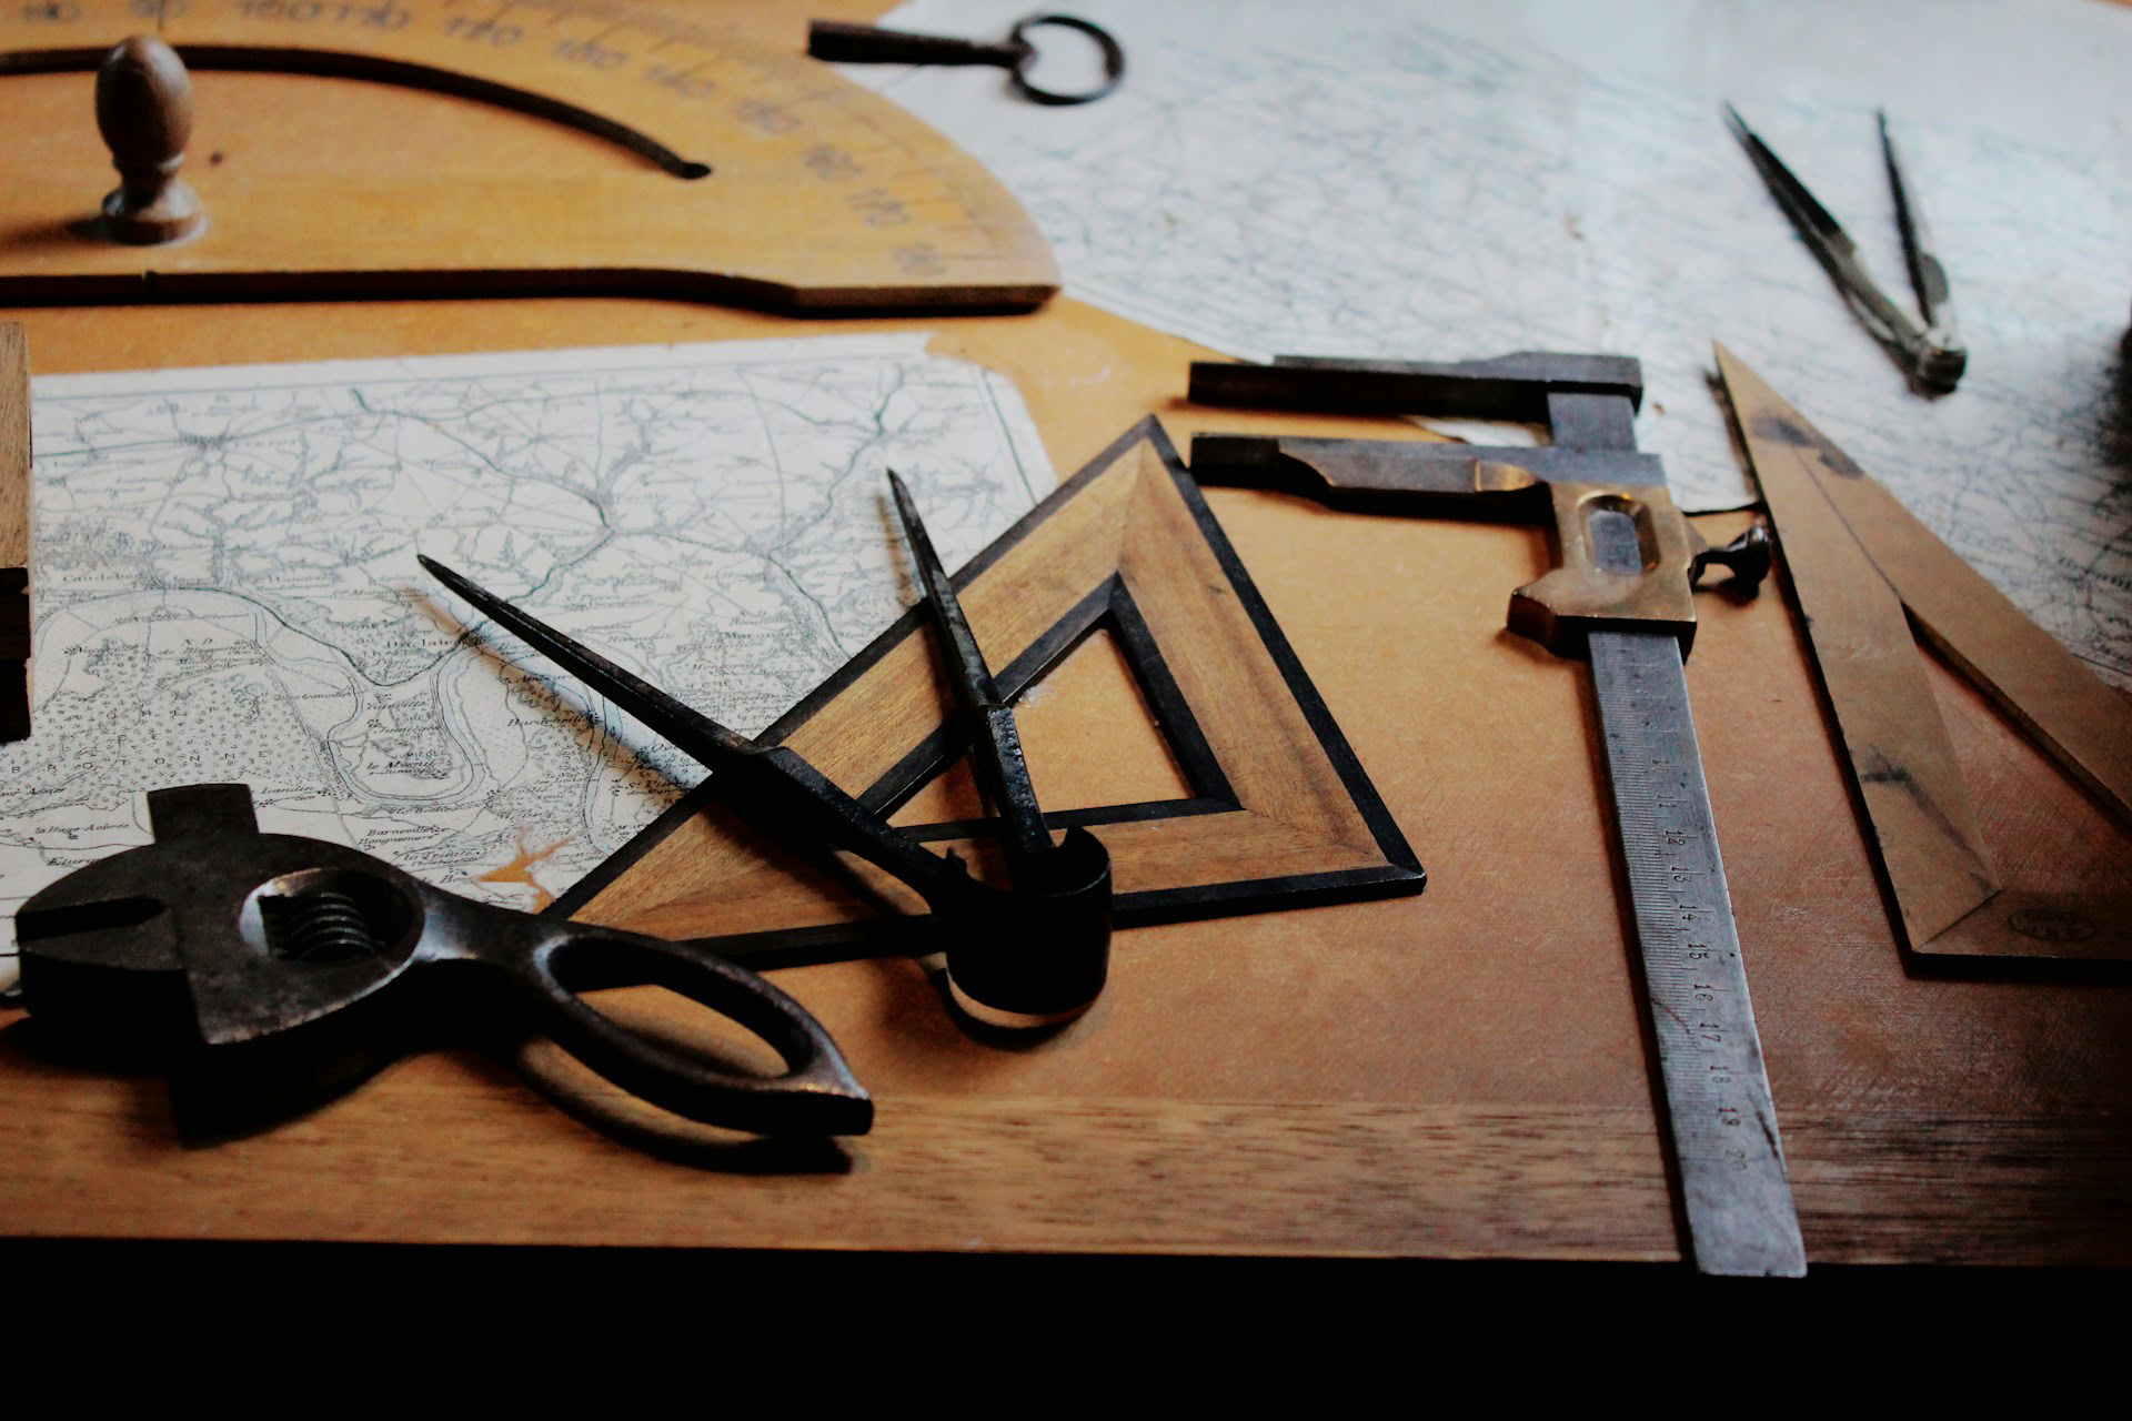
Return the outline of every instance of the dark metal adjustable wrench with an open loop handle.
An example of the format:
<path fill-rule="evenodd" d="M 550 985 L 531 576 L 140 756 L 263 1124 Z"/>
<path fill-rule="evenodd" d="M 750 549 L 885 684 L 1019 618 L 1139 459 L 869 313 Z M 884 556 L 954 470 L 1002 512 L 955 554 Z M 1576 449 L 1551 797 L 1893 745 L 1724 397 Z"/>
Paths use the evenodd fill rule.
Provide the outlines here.
<path fill-rule="evenodd" d="M 154 790 L 147 807 L 154 844 L 23 903 L 21 993 L 53 1042 L 215 1082 L 224 1099 L 194 1099 L 196 1112 L 316 1104 L 443 1023 L 456 1040 L 537 1031 L 623 1091 L 708 1125 L 872 1127 L 874 1104 L 821 1023 L 704 948 L 478 903 L 341 844 L 260 833 L 243 784 Z M 637 982 L 740 1023 L 785 1074 L 716 1069 L 580 995 Z"/>

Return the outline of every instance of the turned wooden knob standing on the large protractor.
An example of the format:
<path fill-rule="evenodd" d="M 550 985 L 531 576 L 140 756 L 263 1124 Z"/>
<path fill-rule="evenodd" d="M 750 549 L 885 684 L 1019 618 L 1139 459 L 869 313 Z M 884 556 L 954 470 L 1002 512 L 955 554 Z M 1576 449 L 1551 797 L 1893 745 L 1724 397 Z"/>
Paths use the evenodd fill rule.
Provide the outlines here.
<path fill-rule="evenodd" d="M 119 170 L 104 196 L 113 239 L 154 245 L 207 224 L 200 198 L 177 177 L 192 138 L 192 75 L 175 49 L 151 34 L 119 40 L 96 70 L 96 128 Z"/>

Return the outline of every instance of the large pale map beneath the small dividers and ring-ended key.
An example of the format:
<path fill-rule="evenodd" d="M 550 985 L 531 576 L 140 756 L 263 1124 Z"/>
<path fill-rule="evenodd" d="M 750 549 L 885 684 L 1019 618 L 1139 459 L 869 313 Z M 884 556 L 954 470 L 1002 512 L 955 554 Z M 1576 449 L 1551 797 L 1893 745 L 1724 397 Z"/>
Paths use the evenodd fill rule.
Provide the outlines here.
<path fill-rule="evenodd" d="M 998 36 L 1017 0 L 917 0 Z M 1725 341 L 2104 675 L 2132 680 L 2132 11 L 2096 0 L 1087 0 L 1083 109 L 844 66 L 1030 207 L 1072 296 L 1213 349 L 1640 356 L 1689 507 L 1748 496 Z M 1047 64 L 1075 36 L 1038 30 Z M 1045 75 L 1072 87 L 1075 75 Z M 1953 277 L 1961 388 L 1908 390 L 1793 234 L 1731 100 L 1908 300 L 1874 111 Z"/>

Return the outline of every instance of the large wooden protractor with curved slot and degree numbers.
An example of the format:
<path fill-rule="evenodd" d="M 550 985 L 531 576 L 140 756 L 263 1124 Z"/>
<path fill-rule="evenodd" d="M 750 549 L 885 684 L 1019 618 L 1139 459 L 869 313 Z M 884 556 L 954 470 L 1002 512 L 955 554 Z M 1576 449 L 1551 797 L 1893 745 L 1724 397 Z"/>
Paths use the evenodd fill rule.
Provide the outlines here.
<path fill-rule="evenodd" d="M 94 228 L 92 75 L 194 64 L 183 243 Z M 228 72 L 239 70 L 239 72 Z M 635 290 L 1025 309 L 1028 213 L 891 102 L 729 28 L 599 0 L 28 0 L 0 11 L 0 303 Z M 706 173 L 708 168 L 708 173 Z"/>

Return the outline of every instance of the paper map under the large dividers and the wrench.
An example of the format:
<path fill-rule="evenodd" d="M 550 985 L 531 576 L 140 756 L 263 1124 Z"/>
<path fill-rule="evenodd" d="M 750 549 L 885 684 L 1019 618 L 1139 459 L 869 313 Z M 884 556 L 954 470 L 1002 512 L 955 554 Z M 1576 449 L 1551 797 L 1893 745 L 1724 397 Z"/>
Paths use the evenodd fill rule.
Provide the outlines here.
<path fill-rule="evenodd" d="M 885 469 L 951 567 L 1055 486 L 1013 383 L 923 334 L 62 375 L 32 420 L 9 920 L 145 844 L 143 790 L 209 780 L 539 908 L 704 771 L 520 667 L 418 552 L 755 733 L 917 597 Z"/>

